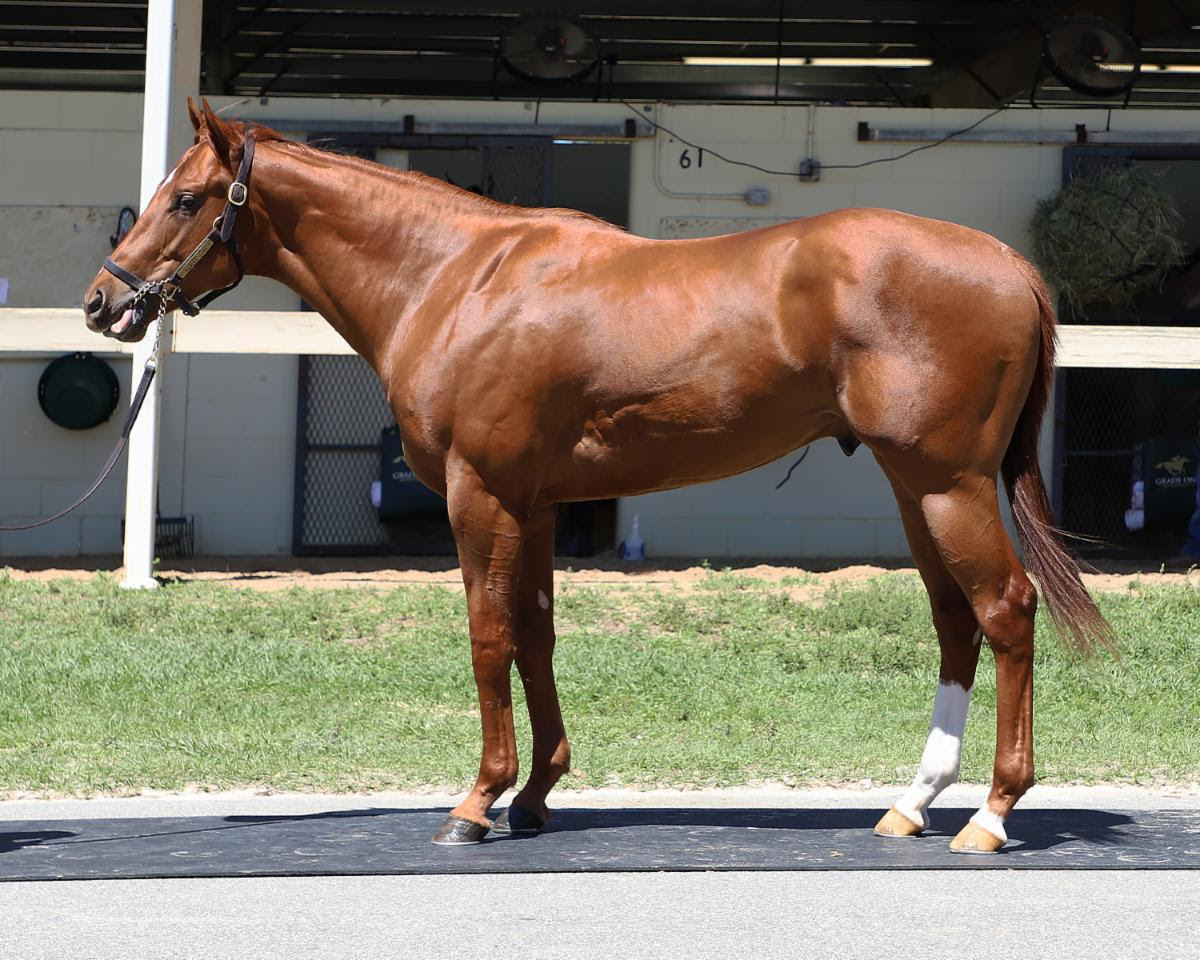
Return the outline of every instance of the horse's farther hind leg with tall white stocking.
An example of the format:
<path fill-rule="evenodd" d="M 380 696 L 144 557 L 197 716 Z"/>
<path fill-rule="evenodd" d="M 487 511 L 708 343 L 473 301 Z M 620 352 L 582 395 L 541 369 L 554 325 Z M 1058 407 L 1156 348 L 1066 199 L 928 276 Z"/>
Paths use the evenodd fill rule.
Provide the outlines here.
<path fill-rule="evenodd" d="M 880 836 L 916 836 L 929 827 L 926 810 L 938 793 L 959 779 L 962 732 L 971 706 L 971 686 L 979 661 L 979 624 L 971 604 L 950 576 L 925 526 L 920 508 L 893 480 L 913 560 L 929 593 L 934 630 L 941 647 L 937 695 L 929 737 L 912 786 L 875 828 Z"/>

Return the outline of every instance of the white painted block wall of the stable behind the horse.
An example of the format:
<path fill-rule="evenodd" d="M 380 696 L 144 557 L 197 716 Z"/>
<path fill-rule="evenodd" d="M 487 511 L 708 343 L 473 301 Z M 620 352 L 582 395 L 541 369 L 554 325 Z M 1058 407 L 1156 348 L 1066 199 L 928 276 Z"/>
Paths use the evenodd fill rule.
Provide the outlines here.
<path fill-rule="evenodd" d="M 216 106 L 222 106 L 217 103 Z M 234 115 L 280 122 L 304 120 L 532 122 L 532 104 L 462 101 L 271 100 L 247 102 Z M 611 122 L 629 115 L 620 104 L 547 103 L 542 124 Z M 942 217 L 1026 247 L 1025 223 L 1036 198 L 1060 184 L 1058 145 L 954 144 L 894 163 L 858 170 L 830 164 L 893 157 L 906 144 L 858 143 L 860 120 L 888 127 L 956 130 L 976 110 L 857 109 L 814 112 L 814 154 L 826 164 L 817 184 L 770 176 L 719 162 L 678 163 L 683 144 L 661 134 L 632 150 L 631 229 L 661 236 L 676 218 L 773 222 L 850 205 L 890 206 Z M 806 107 L 660 106 L 652 116 L 679 136 L 734 160 L 781 170 L 806 155 Z M 1010 110 L 985 128 L 1093 128 L 1192 131 L 1195 114 L 1178 112 Z M 11 204 L 121 205 L 137 196 L 140 97 L 121 94 L 0 91 L 0 206 Z M 695 157 L 695 151 L 691 151 Z M 655 176 L 658 169 L 659 175 Z M 767 206 L 706 197 L 772 192 Z M 689 194 L 667 196 L 665 191 Z M 96 263 L 107 251 L 96 252 Z M 0 276 L 5 276 L 0 264 Z M 83 290 L 64 292 L 77 304 Z M 290 292 L 250 280 L 224 306 L 294 310 Z M 192 323 L 203 323 L 203 317 Z M 112 444 L 115 422 L 71 434 L 37 408 L 34 384 L 48 358 L 0 360 L 0 515 L 31 517 L 53 509 L 92 475 Z M 127 385 L 127 361 L 114 360 Z M 164 515 L 196 515 L 198 550 L 205 553 L 276 553 L 290 547 L 294 358 L 172 358 L 163 404 L 161 504 Z M 860 450 L 851 460 L 827 442 L 815 444 L 781 491 L 788 460 L 718 484 L 624 500 L 620 539 L 632 514 L 658 556 L 905 556 L 890 491 Z M 0 554 L 118 552 L 120 478 L 73 518 L 42 532 L 0 535 Z"/>

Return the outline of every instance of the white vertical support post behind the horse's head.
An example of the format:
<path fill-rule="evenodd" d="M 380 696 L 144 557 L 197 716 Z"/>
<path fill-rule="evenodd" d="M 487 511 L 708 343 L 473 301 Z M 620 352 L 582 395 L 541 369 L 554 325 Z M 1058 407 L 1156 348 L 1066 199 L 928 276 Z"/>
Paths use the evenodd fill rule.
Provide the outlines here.
<path fill-rule="evenodd" d="M 172 160 L 172 119 L 199 80 L 202 0 L 150 0 L 146 16 L 145 98 L 142 110 L 140 209 L 145 210 Z M 173 317 L 163 319 L 161 348 L 169 348 Z M 154 349 L 148 336 L 133 347 L 136 385 Z M 158 490 L 158 419 L 162 403 L 162 349 L 158 373 L 130 434 L 125 485 L 125 580 L 122 587 L 152 588 L 155 515 Z"/>

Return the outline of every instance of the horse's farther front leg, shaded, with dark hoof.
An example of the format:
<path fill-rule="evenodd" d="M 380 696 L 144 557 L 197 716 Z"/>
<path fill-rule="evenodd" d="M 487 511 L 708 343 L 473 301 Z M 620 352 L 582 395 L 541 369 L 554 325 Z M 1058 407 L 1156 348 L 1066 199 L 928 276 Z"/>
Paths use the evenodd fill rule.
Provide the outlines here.
<path fill-rule="evenodd" d="M 530 518 L 521 552 L 516 660 L 533 728 L 529 780 L 492 829 L 536 833 L 550 818 L 546 796 L 570 769 L 571 748 L 554 686 L 554 510 Z"/>

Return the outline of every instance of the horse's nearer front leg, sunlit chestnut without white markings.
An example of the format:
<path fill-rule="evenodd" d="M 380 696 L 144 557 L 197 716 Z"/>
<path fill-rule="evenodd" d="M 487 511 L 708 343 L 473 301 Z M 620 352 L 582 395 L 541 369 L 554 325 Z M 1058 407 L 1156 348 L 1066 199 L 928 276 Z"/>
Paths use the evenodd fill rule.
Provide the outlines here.
<path fill-rule="evenodd" d="M 516 653 L 514 630 L 523 529 L 469 468 L 448 484 L 450 522 L 467 588 L 470 659 L 479 690 L 484 752 L 479 776 L 433 835 L 434 844 L 478 844 L 491 829 L 487 811 L 517 780 L 509 674 Z"/>

